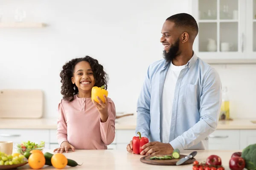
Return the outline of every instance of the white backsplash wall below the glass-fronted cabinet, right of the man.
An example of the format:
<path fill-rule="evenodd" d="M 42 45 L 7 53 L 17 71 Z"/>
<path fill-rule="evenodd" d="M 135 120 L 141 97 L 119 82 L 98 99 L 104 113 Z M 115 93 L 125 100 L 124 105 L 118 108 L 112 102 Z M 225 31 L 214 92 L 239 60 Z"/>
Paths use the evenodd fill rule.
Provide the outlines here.
<path fill-rule="evenodd" d="M 256 118 L 256 65 L 212 65 L 227 86 L 231 118 Z"/>

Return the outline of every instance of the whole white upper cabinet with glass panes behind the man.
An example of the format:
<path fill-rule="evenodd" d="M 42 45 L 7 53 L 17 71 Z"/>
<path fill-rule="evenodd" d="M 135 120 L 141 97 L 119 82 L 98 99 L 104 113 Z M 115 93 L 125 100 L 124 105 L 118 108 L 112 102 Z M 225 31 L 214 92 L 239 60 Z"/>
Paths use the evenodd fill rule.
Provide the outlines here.
<path fill-rule="evenodd" d="M 256 0 L 192 0 L 193 49 L 209 63 L 256 63 Z"/>

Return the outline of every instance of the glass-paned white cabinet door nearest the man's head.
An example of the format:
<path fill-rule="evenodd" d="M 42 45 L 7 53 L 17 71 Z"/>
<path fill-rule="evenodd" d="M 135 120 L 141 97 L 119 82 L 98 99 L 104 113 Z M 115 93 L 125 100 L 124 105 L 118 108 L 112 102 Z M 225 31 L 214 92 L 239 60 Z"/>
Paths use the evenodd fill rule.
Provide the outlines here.
<path fill-rule="evenodd" d="M 202 58 L 242 57 L 245 7 L 244 0 L 193 0 L 192 15 L 199 27 L 195 49 Z"/>

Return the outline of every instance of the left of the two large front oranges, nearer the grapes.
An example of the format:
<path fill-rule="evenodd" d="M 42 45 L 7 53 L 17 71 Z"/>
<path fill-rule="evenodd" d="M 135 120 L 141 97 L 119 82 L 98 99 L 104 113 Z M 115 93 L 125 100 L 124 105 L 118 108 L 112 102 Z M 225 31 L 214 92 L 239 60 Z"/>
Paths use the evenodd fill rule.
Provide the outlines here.
<path fill-rule="evenodd" d="M 42 167 L 44 167 L 44 164 L 45 164 L 44 154 L 42 155 L 41 153 L 32 153 L 29 156 L 28 162 L 29 162 L 29 166 L 32 169 L 34 170 L 41 169 Z"/>

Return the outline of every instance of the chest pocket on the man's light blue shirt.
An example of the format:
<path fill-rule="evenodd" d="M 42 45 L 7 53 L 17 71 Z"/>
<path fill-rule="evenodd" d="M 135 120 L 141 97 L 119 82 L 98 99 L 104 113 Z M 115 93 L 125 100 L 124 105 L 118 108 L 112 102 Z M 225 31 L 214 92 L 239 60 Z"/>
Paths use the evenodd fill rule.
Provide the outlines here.
<path fill-rule="evenodd" d="M 187 84 L 185 91 L 185 100 L 186 104 L 192 106 L 198 106 L 198 98 L 197 98 L 197 89 L 198 85 Z"/>

